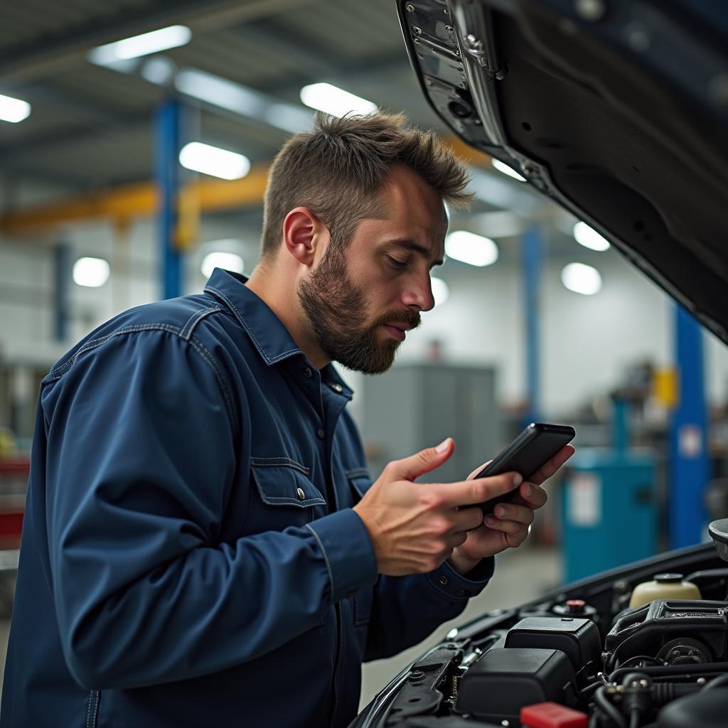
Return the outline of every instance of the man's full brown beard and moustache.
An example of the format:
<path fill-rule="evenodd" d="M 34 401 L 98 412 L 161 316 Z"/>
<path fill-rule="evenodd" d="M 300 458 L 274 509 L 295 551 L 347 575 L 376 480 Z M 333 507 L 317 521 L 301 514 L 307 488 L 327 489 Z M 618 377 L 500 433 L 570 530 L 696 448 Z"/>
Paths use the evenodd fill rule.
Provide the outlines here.
<path fill-rule="evenodd" d="M 394 363 L 400 341 L 379 341 L 377 328 L 384 323 L 420 324 L 418 312 L 400 309 L 366 323 L 369 306 L 366 290 L 349 277 L 340 248 L 330 245 L 312 274 L 298 283 L 298 300 L 308 317 L 317 344 L 331 361 L 352 371 L 381 374 Z"/>

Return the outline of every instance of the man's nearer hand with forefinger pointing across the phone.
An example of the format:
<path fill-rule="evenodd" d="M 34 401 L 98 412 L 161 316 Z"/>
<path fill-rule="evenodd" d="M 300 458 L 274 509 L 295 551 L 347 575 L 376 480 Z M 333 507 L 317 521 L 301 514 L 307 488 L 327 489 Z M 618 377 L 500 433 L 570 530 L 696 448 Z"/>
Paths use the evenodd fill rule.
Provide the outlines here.
<path fill-rule="evenodd" d="M 459 483 L 413 483 L 435 470 L 454 451 L 448 438 L 387 464 L 354 510 L 364 522 L 374 547 L 380 574 L 434 571 L 470 538 L 468 531 L 483 526 L 483 511 L 468 508 L 513 490 L 521 483 L 514 472 Z M 473 473 L 473 475 L 475 475 Z"/>

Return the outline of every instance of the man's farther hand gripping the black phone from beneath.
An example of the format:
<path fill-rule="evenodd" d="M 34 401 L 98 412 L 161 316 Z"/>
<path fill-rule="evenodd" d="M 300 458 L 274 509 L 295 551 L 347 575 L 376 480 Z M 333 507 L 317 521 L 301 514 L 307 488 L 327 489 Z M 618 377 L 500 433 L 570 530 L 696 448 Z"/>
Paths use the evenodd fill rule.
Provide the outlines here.
<path fill-rule="evenodd" d="M 451 566 L 461 574 L 467 574 L 480 559 L 520 546 L 529 534 L 529 526 L 534 522 L 534 511 L 545 505 L 548 499 L 541 484 L 554 475 L 574 452 L 573 446 L 563 446 L 553 458 L 521 483 L 518 494 L 514 494 L 509 502 L 496 505 L 494 514 L 487 515 L 477 529 L 467 534 L 462 545 L 453 550 L 449 559 Z M 475 478 L 476 473 L 487 464 L 475 468 L 467 480 Z"/>

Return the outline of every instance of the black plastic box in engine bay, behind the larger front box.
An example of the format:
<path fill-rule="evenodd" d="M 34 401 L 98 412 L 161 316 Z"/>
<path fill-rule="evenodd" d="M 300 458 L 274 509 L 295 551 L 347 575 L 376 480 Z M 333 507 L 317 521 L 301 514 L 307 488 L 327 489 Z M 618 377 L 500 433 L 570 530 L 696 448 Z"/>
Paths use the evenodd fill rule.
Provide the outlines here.
<path fill-rule="evenodd" d="M 508 630 L 506 647 L 558 649 L 577 673 L 593 675 L 601 665 L 601 636 L 592 620 L 577 617 L 526 617 Z"/>

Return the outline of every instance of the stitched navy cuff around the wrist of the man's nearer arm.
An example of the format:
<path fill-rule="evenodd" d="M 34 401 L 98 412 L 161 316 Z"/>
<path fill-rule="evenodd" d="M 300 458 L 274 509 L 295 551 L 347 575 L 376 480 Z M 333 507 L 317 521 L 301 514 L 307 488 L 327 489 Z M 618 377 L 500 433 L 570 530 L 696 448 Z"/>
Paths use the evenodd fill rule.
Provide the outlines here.
<path fill-rule="evenodd" d="M 378 576 L 374 548 L 354 510 L 345 508 L 306 525 L 326 562 L 332 604 L 374 585 Z"/>

